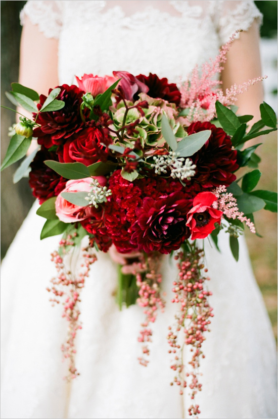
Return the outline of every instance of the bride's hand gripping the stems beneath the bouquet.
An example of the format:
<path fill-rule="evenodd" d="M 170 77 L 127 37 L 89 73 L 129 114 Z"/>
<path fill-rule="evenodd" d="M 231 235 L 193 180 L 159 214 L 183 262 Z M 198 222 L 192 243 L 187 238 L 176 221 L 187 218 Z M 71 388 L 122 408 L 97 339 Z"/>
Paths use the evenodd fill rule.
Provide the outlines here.
<path fill-rule="evenodd" d="M 143 253 L 130 252 L 130 253 L 119 253 L 114 244 L 109 249 L 111 259 L 119 265 L 123 265 L 123 274 L 134 274 L 136 272 L 142 272 L 142 263 L 144 263 Z"/>

